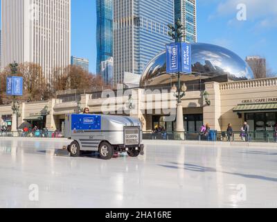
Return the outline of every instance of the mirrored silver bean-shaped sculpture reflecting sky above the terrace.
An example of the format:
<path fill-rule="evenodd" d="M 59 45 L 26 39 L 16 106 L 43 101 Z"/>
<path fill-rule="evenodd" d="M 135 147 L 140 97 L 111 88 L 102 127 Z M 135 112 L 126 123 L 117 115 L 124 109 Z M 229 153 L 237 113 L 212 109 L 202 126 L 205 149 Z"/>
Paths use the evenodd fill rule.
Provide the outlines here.
<path fill-rule="evenodd" d="M 221 46 L 213 44 L 192 44 L 193 74 L 184 74 L 181 81 L 187 85 L 201 85 L 207 82 L 248 80 L 253 72 L 247 62 Z M 141 87 L 154 85 L 169 86 L 177 83 L 176 75 L 166 74 L 166 51 L 155 56 L 145 67 L 141 76 Z"/>

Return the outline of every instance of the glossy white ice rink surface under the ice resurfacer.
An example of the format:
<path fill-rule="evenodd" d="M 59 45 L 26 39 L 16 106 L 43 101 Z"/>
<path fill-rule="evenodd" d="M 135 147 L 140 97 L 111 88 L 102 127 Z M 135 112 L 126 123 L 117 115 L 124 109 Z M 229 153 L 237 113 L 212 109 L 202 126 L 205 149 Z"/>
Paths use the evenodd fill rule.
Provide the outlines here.
<path fill-rule="evenodd" d="M 0 207 L 277 207 L 277 150 L 145 142 L 100 160 L 65 140 L 0 138 Z"/>

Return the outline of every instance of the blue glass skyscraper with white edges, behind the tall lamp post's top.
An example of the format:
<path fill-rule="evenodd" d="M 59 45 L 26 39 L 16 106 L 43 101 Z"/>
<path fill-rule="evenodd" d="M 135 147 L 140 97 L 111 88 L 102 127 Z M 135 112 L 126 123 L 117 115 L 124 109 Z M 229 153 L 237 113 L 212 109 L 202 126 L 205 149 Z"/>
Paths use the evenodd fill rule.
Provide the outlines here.
<path fill-rule="evenodd" d="M 175 0 L 175 22 L 181 19 L 184 42 L 197 42 L 196 0 Z"/>

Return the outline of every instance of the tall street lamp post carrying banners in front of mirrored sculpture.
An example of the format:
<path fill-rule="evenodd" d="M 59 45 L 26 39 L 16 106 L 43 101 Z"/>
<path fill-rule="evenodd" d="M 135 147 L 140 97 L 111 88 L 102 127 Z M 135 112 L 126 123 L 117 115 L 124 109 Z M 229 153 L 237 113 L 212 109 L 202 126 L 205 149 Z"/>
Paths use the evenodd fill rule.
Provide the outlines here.
<path fill-rule="evenodd" d="M 175 28 L 176 27 L 176 28 Z M 183 24 L 181 23 L 181 20 L 178 19 L 178 21 L 175 23 L 175 27 L 172 26 L 172 24 L 168 24 L 168 28 L 171 29 L 171 31 L 168 32 L 168 35 L 172 37 L 172 40 L 175 40 L 175 42 L 181 42 L 183 37 L 186 37 L 183 33 Z M 181 73 L 178 71 L 178 87 L 177 87 L 177 115 L 176 115 L 176 133 L 179 137 L 179 139 L 185 139 L 185 129 L 184 129 L 184 113 L 183 113 L 183 105 L 181 103 L 181 99 L 186 95 L 187 87 L 186 85 L 181 86 Z"/>

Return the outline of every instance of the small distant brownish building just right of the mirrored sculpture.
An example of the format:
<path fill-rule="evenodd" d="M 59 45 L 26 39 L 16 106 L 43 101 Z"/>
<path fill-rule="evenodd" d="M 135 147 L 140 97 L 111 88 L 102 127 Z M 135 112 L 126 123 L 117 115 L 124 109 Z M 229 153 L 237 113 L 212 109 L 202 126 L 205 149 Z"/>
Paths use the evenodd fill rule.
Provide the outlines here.
<path fill-rule="evenodd" d="M 251 67 L 255 78 L 267 77 L 267 61 L 260 56 L 247 56 L 246 62 Z"/>

